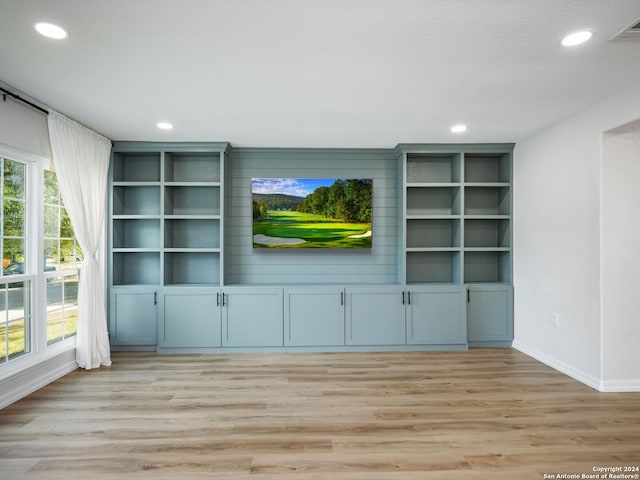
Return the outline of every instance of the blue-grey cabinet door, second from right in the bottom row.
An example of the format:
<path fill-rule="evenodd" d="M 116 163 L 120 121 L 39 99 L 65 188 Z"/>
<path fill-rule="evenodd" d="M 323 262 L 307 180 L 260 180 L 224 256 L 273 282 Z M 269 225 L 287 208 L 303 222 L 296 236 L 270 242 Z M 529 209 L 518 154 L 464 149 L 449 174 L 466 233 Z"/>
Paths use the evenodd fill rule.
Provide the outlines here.
<path fill-rule="evenodd" d="M 462 286 L 407 289 L 407 343 L 466 344 L 467 316 Z"/>

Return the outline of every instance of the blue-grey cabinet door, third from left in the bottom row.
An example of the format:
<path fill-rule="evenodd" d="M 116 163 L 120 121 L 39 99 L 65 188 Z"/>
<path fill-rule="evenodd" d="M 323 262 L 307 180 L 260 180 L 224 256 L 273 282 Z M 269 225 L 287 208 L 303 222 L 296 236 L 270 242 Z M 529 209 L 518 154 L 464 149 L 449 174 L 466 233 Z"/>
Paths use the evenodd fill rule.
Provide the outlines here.
<path fill-rule="evenodd" d="M 282 346 L 281 288 L 224 288 L 222 345 Z"/>

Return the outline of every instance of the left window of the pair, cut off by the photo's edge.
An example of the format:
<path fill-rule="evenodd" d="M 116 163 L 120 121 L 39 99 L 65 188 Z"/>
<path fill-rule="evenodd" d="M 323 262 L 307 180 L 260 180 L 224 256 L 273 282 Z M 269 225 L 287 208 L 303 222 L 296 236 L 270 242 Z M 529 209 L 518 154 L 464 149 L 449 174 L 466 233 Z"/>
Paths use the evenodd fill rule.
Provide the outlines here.
<path fill-rule="evenodd" d="M 31 351 L 31 279 L 25 276 L 27 223 L 27 166 L 0 157 L 0 363 Z"/>

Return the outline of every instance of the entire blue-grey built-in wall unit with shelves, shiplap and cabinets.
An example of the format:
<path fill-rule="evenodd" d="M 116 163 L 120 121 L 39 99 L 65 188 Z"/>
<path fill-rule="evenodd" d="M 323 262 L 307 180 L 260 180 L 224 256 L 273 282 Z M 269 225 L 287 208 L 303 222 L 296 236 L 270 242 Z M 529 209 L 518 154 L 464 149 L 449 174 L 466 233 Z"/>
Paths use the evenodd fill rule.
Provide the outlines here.
<path fill-rule="evenodd" d="M 405 144 L 231 154 L 226 143 L 116 142 L 108 236 L 112 345 L 510 345 L 512 149 Z M 252 177 L 323 178 L 336 169 L 375 177 L 371 251 L 252 249 Z"/>

